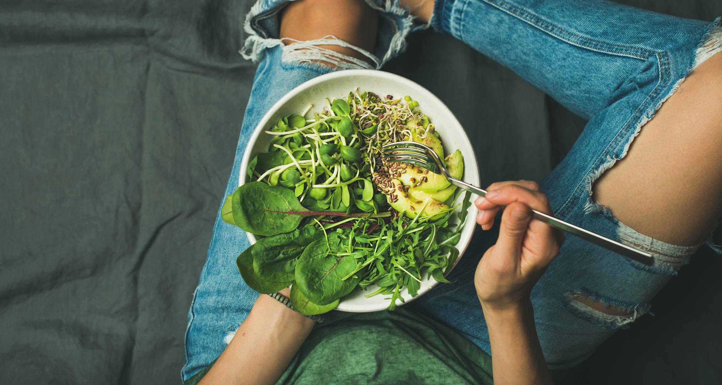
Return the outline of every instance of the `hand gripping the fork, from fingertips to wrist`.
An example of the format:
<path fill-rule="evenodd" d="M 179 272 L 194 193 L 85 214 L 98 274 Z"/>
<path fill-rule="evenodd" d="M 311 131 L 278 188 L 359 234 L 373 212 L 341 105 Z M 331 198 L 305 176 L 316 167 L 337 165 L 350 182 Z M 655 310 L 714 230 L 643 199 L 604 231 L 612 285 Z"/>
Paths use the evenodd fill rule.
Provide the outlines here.
<path fill-rule="evenodd" d="M 552 213 L 549 199 L 532 181 L 494 183 L 485 198 L 479 197 L 477 223 L 489 230 L 503 209 L 497 243 L 479 261 L 474 283 L 482 306 L 517 308 L 529 301 L 531 287 L 559 253 L 564 234 L 539 220 L 531 209 Z M 506 207 L 504 207 L 506 206 Z"/>

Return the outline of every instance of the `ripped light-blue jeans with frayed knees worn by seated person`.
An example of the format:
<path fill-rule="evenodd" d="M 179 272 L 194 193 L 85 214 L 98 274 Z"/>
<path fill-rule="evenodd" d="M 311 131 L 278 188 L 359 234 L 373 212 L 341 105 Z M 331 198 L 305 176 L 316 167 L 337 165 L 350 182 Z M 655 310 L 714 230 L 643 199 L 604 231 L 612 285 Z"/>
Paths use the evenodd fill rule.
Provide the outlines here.
<path fill-rule="evenodd" d="M 404 51 L 414 24 L 396 1 L 367 0 L 378 9 L 375 51 L 365 61 L 323 51 L 333 37 L 284 44 L 278 12 L 287 0 L 261 0 L 245 21 L 250 37 L 242 53 L 258 61 L 235 163 L 224 196 L 238 186 L 240 160 L 251 132 L 285 93 L 337 69 L 379 69 Z M 549 368 L 570 368 L 591 355 L 620 326 L 649 309 L 649 301 L 698 246 L 674 246 L 635 232 L 591 199 L 604 170 L 624 157 L 643 124 L 705 59 L 722 51 L 722 20 L 671 17 L 601 0 L 437 0 L 430 25 L 508 66 L 588 124 L 562 163 L 544 179 L 554 215 L 651 251 L 652 267 L 570 236 L 531 293 L 536 329 Z M 346 44 L 346 46 L 348 46 Z M 333 63 L 331 69 L 319 59 Z M 222 202 L 221 202 L 222 203 Z M 451 279 L 406 306 L 442 321 L 490 353 L 489 335 L 476 291 L 474 269 L 495 242 L 477 231 Z M 249 246 L 242 230 L 217 217 L 200 282 L 188 312 L 185 381 L 224 350 L 258 297 L 238 274 L 235 258 Z M 710 244 L 710 246 L 712 246 Z M 578 299 L 625 313 L 610 315 Z"/>

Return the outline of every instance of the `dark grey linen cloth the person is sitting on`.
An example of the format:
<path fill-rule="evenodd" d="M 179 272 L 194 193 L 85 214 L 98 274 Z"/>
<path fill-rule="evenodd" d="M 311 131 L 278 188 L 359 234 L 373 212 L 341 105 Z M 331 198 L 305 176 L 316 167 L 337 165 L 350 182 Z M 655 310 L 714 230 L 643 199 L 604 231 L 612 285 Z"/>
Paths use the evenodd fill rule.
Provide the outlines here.
<path fill-rule="evenodd" d="M 719 0 L 623 2 L 722 14 Z M 252 3 L 0 1 L 0 382 L 180 381 L 186 312 L 253 81 L 237 53 Z M 386 70 L 451 107 L 484 183 L 541 180 L 585 124 L 448 35 L 412 35 Z M 700 251 L 653 316 L 564 383 L 722 382 L 721 268 Z"/>

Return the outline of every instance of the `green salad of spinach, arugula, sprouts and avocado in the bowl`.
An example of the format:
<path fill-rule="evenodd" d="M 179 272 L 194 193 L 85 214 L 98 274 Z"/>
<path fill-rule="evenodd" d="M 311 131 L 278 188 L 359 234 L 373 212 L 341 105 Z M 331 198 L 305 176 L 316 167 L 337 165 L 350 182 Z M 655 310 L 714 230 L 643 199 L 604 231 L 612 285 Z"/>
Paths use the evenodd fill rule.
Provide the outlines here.
<path fill-rule="evenodd" d="M 255 238 L 237 259 L 249 287 L 290 286 L 292 305 L 312 315 L 380 310 L 379 300 L 393 310 L 448 282 L 468 228 L 469 194 L 380 156 L 383 144 L 413 140 L 435 150 L 452 176 L 464 176 L 464 155 L 443 147 L 411 96 L 353 89 L 269 121 L 260 135 L 266 151 L 249 157 L 245 183 L 222 208 L 226 222 Z M 349 296 L 374 306 L 339 306 Z"/>

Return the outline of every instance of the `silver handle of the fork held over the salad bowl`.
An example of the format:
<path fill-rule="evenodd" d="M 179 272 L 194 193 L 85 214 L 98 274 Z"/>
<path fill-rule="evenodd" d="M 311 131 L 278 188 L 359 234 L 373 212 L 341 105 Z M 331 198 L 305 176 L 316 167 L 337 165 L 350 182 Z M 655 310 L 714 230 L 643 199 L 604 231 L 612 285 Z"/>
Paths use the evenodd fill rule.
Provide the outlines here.
<path fill-rule="evenodd" d="M 477 186 L 472 186 L 471 184 L 466 183 L 464 181 L 459 181 L 456 178 L 448 177 L 448 180 L 454 186 L 461 187 L 461 189 L 471 191 L 474 194 L 478 194 L 479 196 L 486 196 L 486 194 L 487 194 L 487 191 L 479 189 Z M 534 209 L 532 209 L 531 212 L 532 212 L 532 217 L 534 217 L 534 219 L 541 220 L 541 222 L 545 222 L 545 223 L 551 225 L 553 228 L 558 228 L 560 230 L 564 230 L 567 233 L 576 235 L 579 238 L 582 238 L 586 241 L 594 243 L 595 245 L 606 248 L 607 250 L 614 251 L 615 253 L 617 253 L 621 256 L 625 256 L 629 259 L 638 261 L 640 264 L 652 266 L 652 264 L 654 263 L 654 259 L 653 259 L 652 255 L 645 251 L 638 250 L 636 248 L 627 246 L 627 245 L 625 245 L 623 243 L 619 243 L 617 241 L 612 241 L 609 238 L 603 237 L 596 233 L 592 233 L 589 230 L 585 230 L 583 228 L 580 228 L 579 226 L 572 225 L 569 222 L 565 222 L 563 220 L 559 220 L 555 217 L 552 217 L 552 215 L 544 214 L 543 212 L 539 212 Z"/>

